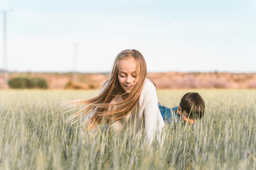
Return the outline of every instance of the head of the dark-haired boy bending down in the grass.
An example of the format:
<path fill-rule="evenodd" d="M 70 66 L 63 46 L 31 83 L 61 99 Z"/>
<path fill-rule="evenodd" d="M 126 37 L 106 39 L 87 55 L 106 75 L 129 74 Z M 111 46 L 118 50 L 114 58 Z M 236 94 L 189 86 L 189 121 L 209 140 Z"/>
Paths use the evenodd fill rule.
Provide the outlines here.
<path fill-rule="evenodd" d="M 204 108 L 203 98 L 196 92 L 188 92 L 181 98 L 178 114 L 183 121 L 193 124 L 203 117 Z"/>

